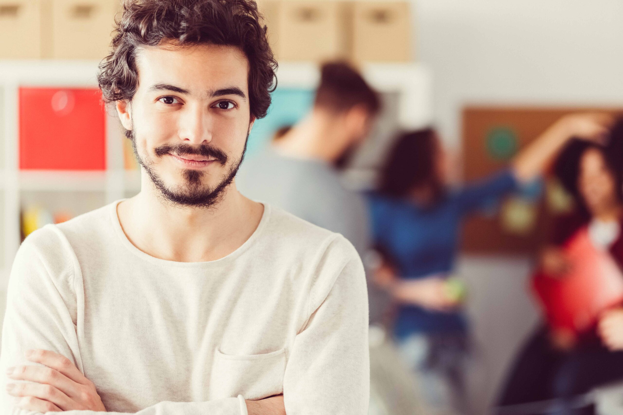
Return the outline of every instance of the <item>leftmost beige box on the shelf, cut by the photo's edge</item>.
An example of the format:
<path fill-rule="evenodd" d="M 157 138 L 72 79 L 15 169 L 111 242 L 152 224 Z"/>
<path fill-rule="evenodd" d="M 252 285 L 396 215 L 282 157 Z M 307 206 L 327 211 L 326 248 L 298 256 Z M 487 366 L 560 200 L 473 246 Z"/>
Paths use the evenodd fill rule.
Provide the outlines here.
<path fill-rule="evenodd" d="M 42 57 L 42 2 L 0 0 L 0 58 Z"/>

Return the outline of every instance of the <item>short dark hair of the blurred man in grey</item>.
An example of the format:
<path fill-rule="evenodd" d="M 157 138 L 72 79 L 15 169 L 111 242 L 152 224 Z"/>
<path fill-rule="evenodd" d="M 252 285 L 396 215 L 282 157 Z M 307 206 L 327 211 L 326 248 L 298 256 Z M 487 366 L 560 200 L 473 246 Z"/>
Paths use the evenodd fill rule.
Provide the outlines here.
<path fill-rule="evenodd" d="M 371 115 L 378 114 L 381 109 L 377 93 L 348 63 L 324 63 L 320 68 L 314 106 L 343 112 L 356 105 L 366 106 Z"/>

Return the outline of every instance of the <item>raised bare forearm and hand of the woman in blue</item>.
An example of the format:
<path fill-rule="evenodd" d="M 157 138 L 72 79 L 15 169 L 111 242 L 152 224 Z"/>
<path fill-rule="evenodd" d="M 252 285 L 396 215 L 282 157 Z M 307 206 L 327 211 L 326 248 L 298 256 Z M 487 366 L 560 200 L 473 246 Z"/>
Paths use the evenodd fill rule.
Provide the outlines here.
<path fill-rule="evenodd" d="M 523 183 L 536 179 L 569 139 L 599 141 L 606 136 L 613 122 L 614 118 L 605 113 L 563 116 L 515 157 L 511 166 L 516 179 Z"/>

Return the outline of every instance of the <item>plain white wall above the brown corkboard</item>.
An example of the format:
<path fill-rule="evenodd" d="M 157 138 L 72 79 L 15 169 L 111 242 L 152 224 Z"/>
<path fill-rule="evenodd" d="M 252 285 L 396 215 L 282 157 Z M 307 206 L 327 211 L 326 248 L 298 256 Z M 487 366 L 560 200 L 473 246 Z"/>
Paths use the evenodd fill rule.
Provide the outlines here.
<path fill-rule="evenodd" d="M 414 48 L 449 144 L 464 103 L 623 105 L 620 0 L 414 1 Z"/>

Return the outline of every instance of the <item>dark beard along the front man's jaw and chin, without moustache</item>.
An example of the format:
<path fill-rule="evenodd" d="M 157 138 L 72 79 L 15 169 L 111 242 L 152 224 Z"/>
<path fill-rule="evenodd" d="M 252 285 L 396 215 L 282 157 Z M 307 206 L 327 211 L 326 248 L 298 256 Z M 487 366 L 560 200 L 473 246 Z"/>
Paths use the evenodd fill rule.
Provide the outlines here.
<path fill-rule="evenodd" d="M 231 166 L 227 170 L 227 172 L 221 175 L 220 182 L 214 187 L 209 187 L 202 184 L 202 179 L 206 172 L 201 170 L 192 170 L 186 169 L 182 172 L 183 183 L 174 185 L 173 187 L 168 187 L 164 184 L 164 181 L 156 172 L 153 160 L 148 159 L 147 157 L 141 157 L 138 154 L 138 149 L 136 148 L 136 139 L 133 134 L 133 131 L 130 131 L 128 138 L 132 141 L 132 148 L 134 151 L 134 155 L 138 163 L 145 169 L 145 172 L 150 177 L 151 182 L 155 185 L 156 189 L 158 189 L 159 196 L 168 203 L 171 203 L 174 206 L 178 207 L 198 207 L 198 208 L 211 208 L 221 202 L 224 195 L 227 193 L 227 187 L 234 180 L 235 175 L 240 168 L 240 164 L 244 160 L 245 152 L 247 151 L 247 141 L 249 140 L 249 132 L 247 132 L 247 138 L 244 142 L 244 149 L 242 149 L 242 154 L 237 161 L 231 163 Z M 158 154 L 158 151 L 156 151 Z M 158 156 L 162 157 L 162 156 Z M 225 156 L 226 157 L 226 156 Z M 221 161 L 221 164 L 224 166 L 226 164 L 225 161 Z"/>

